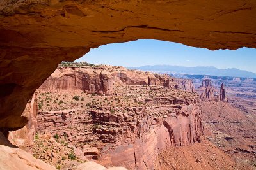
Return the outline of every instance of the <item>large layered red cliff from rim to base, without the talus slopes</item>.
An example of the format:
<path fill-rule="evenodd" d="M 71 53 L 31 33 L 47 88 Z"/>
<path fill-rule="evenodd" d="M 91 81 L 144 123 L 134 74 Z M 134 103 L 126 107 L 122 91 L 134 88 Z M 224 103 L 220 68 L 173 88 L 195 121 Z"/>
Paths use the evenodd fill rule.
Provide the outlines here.
<path fill-rule="evenodd" d="M 70 103 L 72 96 L 63 97 L 81 90 L 86 93 L 79 97 L 87 98 L 81 104 Z M 87 159 L 104 166 L 157 169 L 159 150 L 200 142 L 204 134 L 200 99 L 189 80 L 114 66 L 60 67 L 38 92 L 45 101 L 58 94 L 67 109 L 44 108 L 36 131 L 67 136 Z M 108 94 L 108 99 L 100 94 Z M 86 104 L 92 97 L 97 100 Z M 119 106 L 124 102 L 131 105 Z"/>

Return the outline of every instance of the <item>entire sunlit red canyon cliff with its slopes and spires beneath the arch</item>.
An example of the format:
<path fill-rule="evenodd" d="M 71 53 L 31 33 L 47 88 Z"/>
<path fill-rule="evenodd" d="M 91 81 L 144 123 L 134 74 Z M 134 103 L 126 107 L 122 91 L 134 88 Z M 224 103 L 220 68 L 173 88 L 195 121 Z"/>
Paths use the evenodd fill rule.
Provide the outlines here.
<path fill-rule="evenodd" d="M 224 85 L 221 95 L 212 94 L 211 80 L 200 89 L 198 95 L 191 80 L 166 74 L 60 64 L 34 94 L 28 151 L 57 169 L 88 161 L 127 169 L 253 169 L 255 123 L 221 98 Z M 225 116 L 233 112 L 238 116 Z M 17 138 L 10 141 L 17 145 Z"/>

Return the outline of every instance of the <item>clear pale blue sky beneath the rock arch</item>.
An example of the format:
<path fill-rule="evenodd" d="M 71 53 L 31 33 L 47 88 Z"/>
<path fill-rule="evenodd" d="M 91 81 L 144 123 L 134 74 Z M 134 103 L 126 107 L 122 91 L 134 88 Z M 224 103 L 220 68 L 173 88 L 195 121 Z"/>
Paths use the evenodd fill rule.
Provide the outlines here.
<path fill-rule="evenodd" d="M 152 39 L 102 45 L 76 61 L 124 67 L 156 64 L 214 66 L 219 69 L 237 68 L 256 73 L 256 49 L 253 48 L 211 51 Z"/>

